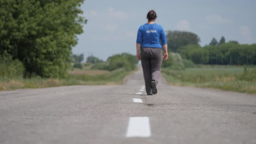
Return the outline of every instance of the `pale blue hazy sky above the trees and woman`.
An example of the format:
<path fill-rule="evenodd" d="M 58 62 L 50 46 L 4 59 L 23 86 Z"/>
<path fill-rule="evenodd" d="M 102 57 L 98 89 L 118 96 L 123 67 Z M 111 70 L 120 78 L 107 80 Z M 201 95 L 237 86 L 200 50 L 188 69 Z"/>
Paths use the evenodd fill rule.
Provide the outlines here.
<path fill-rule="evenodd" d="M 256 43 L 256 0 L 85 0 L 88 23 L 78 36 L 73 53 L 106 60 L 121 52 L 136 53 L 138 27 L 155 10 L 164 30 L 196 33 L 200 45 L 215 37 L 239 43 Z"/>

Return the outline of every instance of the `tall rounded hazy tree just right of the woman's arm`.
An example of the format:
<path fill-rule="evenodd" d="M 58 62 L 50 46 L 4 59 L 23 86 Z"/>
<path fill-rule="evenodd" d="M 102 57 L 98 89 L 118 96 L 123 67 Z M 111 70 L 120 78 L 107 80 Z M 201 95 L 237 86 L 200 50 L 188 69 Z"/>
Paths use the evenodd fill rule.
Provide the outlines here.
<path fill-rule="evenodd" d="M 200 42 L 200 38 L 196 34 L 184 31 L 168 31 L 166 38 L 168 49 L 173 52 L 177 52 L 181 46 L 198 45 Z"/>

